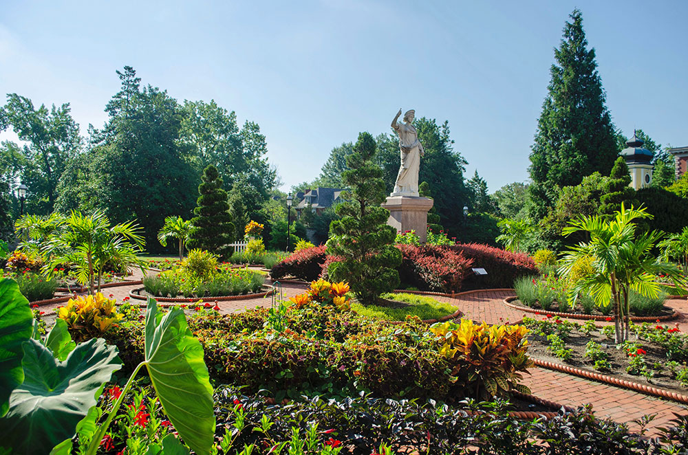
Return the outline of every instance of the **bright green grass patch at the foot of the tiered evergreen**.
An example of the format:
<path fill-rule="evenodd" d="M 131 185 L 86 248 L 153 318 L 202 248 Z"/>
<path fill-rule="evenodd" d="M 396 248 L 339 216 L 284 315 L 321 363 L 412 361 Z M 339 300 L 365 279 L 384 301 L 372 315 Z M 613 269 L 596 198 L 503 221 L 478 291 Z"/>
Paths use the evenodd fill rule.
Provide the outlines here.
<path fill-rule="evenodd" d="M 457 308 L 452 304 L 438 302 L 428 296 L 417 296 L 408 293 L 386 293 L 380 296 L 385 300 L 403 302 L 408 306 L 393 308 L 381 305 L 362 305 L 358 302 L 352 304 L 356 313 L 372 318 L 380 318 L 389 321 L 405 320 L 407 315 L 418 316 L 420 319 L 439 319 L 456 312 Z"/>

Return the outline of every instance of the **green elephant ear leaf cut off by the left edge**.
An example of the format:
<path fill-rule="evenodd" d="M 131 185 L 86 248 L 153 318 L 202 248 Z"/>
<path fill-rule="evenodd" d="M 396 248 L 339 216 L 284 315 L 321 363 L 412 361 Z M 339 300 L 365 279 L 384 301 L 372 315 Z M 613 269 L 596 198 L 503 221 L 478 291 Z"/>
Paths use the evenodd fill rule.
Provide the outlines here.
<path fill-rule="evenodd" d="M 33 318 L 17 282 L 0 280 L 0 417 L 9 410 L 12 390 L 24 380 L 21 344 L 31 337 Z"/>

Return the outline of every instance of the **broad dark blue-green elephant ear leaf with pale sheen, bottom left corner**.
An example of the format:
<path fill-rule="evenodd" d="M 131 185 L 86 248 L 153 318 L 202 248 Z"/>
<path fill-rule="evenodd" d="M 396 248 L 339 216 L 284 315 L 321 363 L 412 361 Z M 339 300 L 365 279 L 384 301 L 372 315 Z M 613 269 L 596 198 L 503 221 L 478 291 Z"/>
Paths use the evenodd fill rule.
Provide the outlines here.
<path fill-rule="evenodd" d="M 23 344 L 24 381 L 0 419 L 0 445 L 15 454 L 39 455 L 71 439 L 109 381 L 122 367 L 117 348 L 98 338 L 81 343 L 65 362 L 36 340 Z"/>

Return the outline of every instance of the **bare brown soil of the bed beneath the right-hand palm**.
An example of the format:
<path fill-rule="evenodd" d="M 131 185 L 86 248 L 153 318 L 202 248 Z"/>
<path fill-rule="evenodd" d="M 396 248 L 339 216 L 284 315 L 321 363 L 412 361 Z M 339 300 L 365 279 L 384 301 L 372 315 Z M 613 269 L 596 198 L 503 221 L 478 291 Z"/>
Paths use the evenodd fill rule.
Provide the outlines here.
<path fill-rule="evenodd" d="M 593 368 L 594 362 L 583 357 L 585 354 L 585 345 L 588 344 L 590 340 L 600 344 L 602 350 L 609 355 L 608 361 L 610 364 L 612 364 L 611 371 L 595 370 Z M 636 342 L 634 335 L 631 335 L 630 341 Z M 593 332 L 590 335 L 585 335 L 585 333 L 574 330 L 570 333 L 565 342 L 566 348 L 572 350 L 571 357 L 568 360 L 555 357 L 552 355 L 552 353 L 550 353 L 550 351 L 547 351 L 547 347 L 549 346 L 547 337 L 528 335 L 528 355 L 530 355 L 530 357 L 548 360 L 549 362 L 574 366 L 576 368 L 580 368 L 581 370 L 601 373 L 612 377 L 618 377 L 619 379 L 625 379 L 627 381 L 633 381 L 639 384 L 647 384 L 656 388 L 677 392 L 682 395 L 688 395 L 688 388 L 681 386 L 680 382 L 674 379 L 674 377 L 671 375 L 671 371 L 666 368 L 666 351 L 652 342 L 637 340 L 638 344 L 641 344 L 643 349 L 647 351 L 647 354 L 644 356 L 647 368 L 654 370 L 652 366 L 656 362 L 661 364 L 661 368 L 654 370 L 654 377 L 651 379 L 647 379 L 641 375 L 636 376 L 626 373 L 626 367 L 628 366 L 628 362 L 630 360 L 630 357 L 627 356 L 626 351 L 623 349 L 617 349 L 616 344 L 614 344 L 614 340 L 610 340 L 599 333 Z"/>

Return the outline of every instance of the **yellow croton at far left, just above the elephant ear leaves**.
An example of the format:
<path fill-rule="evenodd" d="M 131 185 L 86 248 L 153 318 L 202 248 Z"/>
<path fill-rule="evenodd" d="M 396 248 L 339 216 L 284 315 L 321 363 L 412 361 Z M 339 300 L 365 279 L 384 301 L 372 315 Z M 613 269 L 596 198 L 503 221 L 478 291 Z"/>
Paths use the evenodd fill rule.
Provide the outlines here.
<path fill-rule="evenodd" d="M 67 323 L 67 328 L 77 342 L 103 335 L 109 327 L 122 319 L 115 307 L 117 300 L 109 299 L 98 292 L 95 296 L 70 298 L 67 306 L 58 311 L 58 318 Z"/>

